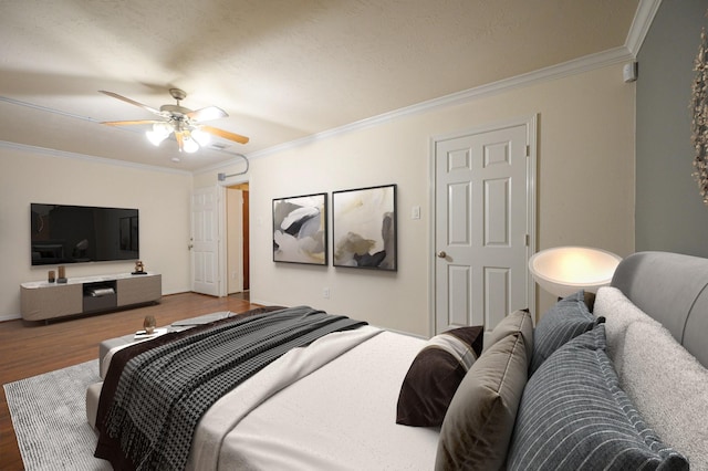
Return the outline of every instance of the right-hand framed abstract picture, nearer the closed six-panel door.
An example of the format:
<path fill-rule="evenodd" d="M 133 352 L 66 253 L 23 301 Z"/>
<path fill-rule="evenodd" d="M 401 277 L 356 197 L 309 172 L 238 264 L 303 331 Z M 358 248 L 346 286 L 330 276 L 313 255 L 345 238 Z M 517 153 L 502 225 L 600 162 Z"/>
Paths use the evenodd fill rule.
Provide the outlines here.
<path fill-rule="evenodd" d="M 396 186 L 332 192 L 334 266 L 396 271 Z"/>

